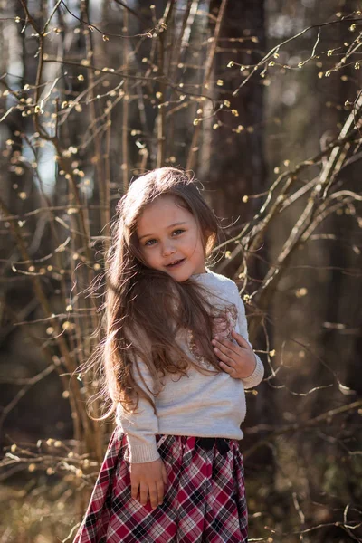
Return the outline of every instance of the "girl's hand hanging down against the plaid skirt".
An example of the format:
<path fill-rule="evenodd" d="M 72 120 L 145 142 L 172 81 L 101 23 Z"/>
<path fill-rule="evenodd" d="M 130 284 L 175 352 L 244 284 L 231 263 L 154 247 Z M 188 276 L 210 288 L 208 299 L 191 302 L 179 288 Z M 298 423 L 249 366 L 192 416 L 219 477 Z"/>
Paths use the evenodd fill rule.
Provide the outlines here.
<path fill-rule="evenodd" d="M 146 505 L 148 497 L 152 509 L 161 505 L 164 499 L 165 487 L 167 486 L 167 472 L 161 458 L 155 462 L 131 463 L 130 464 L 130 491 L 135 500 Z"/>

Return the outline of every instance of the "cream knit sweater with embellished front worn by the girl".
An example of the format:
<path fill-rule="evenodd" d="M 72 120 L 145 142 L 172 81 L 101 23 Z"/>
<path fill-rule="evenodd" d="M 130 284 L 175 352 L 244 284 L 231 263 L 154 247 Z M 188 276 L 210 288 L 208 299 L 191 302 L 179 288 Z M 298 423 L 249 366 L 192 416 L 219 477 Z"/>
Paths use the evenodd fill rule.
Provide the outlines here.
<path fill-rule="evenodd" d="M 248 340 L 248 329 L 243 301 L 233 281 L 223 275 L 207 270 L 193 275 L 208 292 L 207 299 L 214 307 L 214 330 L 219 337 L 230 338 L 234 329 Z M 197 348 L 197 338 L 181 331 L 178 344 L 201 366 L 210 367 Z M 150 390 L 156 385 L 149 376 L 147 367 L 138 360 L 139 372 Z M 201 437 L 225 437 L 240 440 L 243 432 L 240 425 L 246 414 L 245 388 L 257 386 L 262 381 L 264 369 L 256 356 L 252 375 L 245 379 L 234 379 L 227 373 L 215 376 L 203 375 L 190 367 L 187 376 L 167 375 L 162 379 L 163 388 L 155 398 L 157 414 L 147 400 L 140 398 L 138 409 L 131 414 L 117 408 L 117 424 L 127 434 L 129 462 L 152 462 L 159 458 L 156 434 L 194 435 Z M 134 376 L 141 383 L 135 369 Z"/>

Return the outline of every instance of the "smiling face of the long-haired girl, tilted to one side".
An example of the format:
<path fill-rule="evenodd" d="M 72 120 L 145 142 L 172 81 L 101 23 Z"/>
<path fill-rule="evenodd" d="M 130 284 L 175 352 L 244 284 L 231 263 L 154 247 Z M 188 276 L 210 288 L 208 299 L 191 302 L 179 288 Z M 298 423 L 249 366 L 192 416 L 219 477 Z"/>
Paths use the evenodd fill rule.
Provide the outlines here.
<path fill-rule="evenodd" d="M 195 217 L 174 196 L 159 196 L 140 215 L 140 250 L 150 268 L 166 271 L 177 282 L 205 272 L 205 250 Z"/>

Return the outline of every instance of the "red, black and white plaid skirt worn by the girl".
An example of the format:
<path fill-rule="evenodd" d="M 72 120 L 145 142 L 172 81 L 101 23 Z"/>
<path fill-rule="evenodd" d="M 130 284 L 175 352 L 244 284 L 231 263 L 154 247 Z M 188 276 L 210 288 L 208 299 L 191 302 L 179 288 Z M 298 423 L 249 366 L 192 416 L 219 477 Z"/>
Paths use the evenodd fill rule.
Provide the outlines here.
<path fill-rule="evenodd" d="M 162 505 L 130 495 L 127 437 L 110 438 L 90 504 L 73 543 L 244 543 L 243 457 L 235 440 L 157 435 L 167 470 Z M 211 445 L 210 445 L 211 443 Z"/>

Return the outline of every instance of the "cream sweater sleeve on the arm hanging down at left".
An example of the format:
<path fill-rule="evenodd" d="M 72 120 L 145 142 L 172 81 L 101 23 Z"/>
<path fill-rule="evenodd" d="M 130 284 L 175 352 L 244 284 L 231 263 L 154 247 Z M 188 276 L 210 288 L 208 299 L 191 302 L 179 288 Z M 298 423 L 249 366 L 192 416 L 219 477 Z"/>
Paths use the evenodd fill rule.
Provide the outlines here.
<path fill-rule="evenodd" d="M 147 395 L 150 395 L 149 391 L 155 391 L 155 384 L 149 374 L 148 367 L 139 358 L 133 367 L 133 376 Z M 146 398 L 139 396 L 138 408 L 129 413 L 124 410 L 121 404 L 118 404 L 116 421 L 127 435 L 129 462 L 154 462 L 160 458 L 156 443 L 157 414 L 154 413 L 152 405 Z"/>

